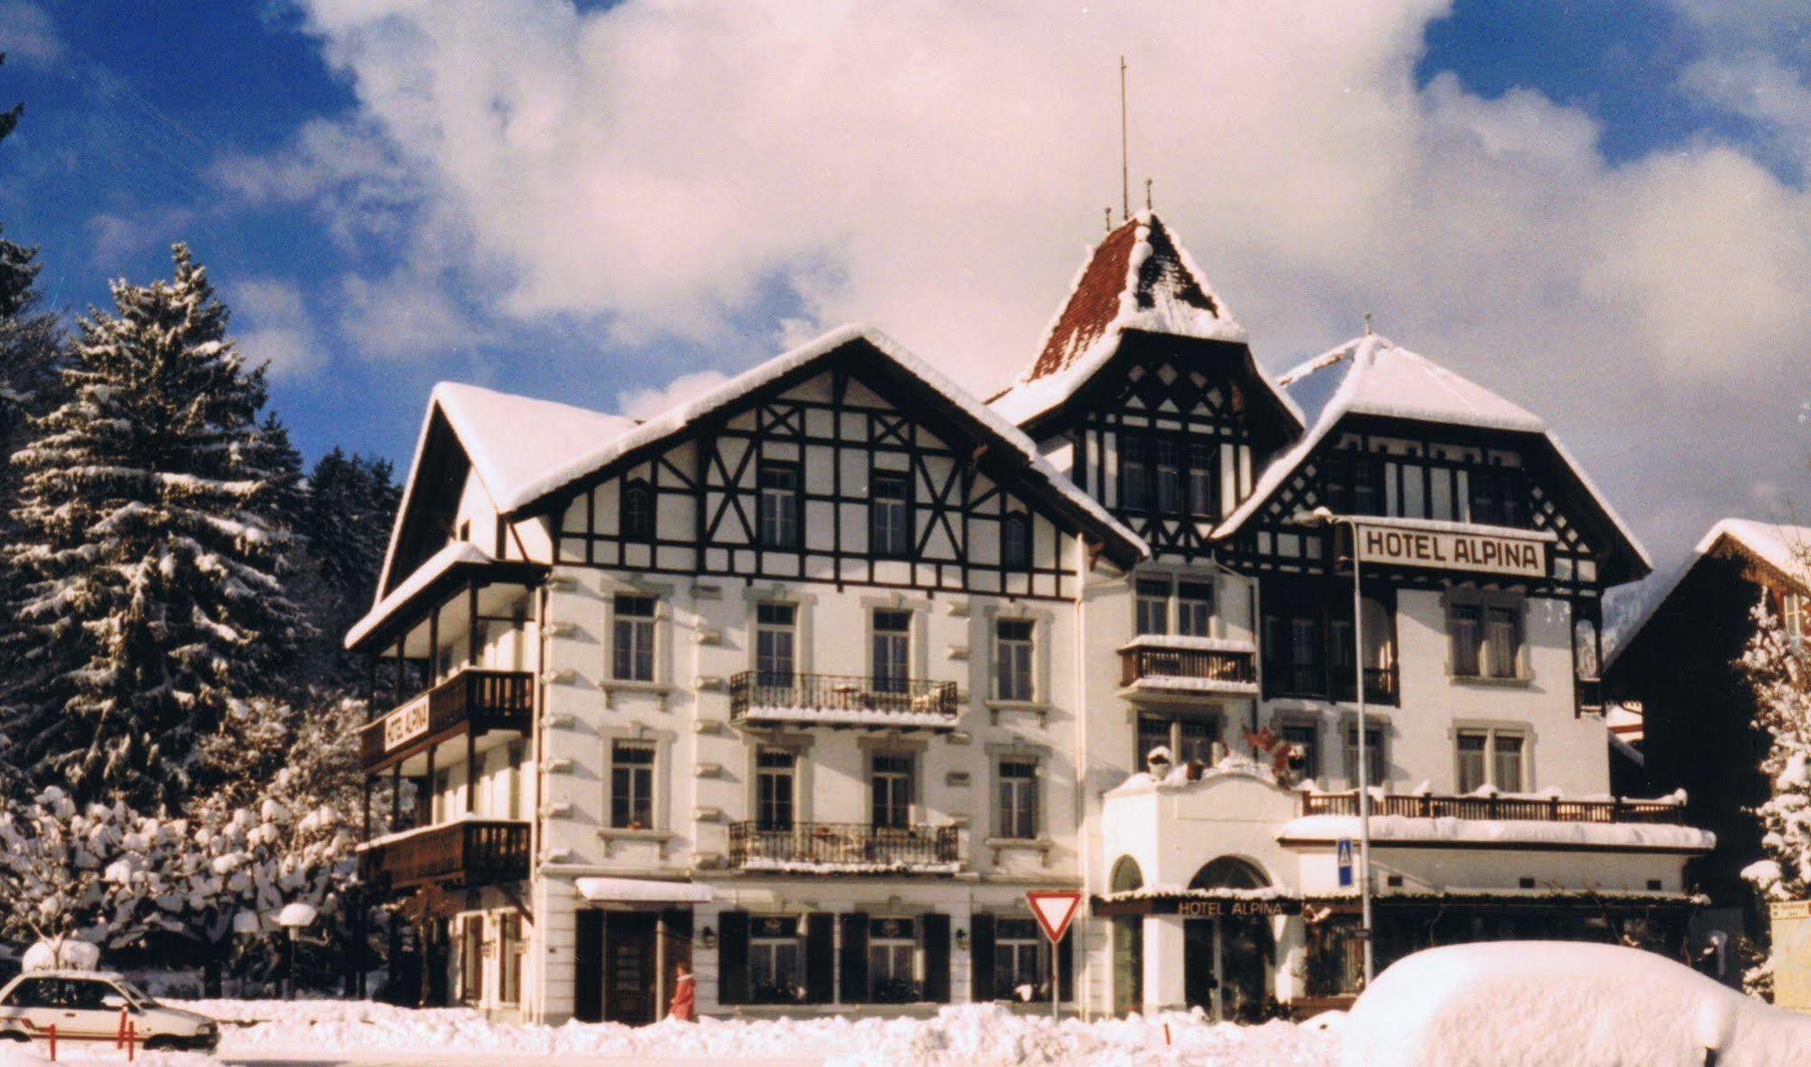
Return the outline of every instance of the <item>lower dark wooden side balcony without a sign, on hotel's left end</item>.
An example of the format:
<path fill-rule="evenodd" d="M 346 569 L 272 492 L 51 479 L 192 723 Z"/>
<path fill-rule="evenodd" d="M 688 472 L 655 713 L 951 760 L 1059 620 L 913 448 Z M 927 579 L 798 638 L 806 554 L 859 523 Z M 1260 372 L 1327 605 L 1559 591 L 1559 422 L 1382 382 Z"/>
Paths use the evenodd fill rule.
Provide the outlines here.
<path fill-rule="evenodd" d="M 529 877 L 529 824 L 464 819 L 391 833 L 362 846 L 360 873 L 389 889 L 440 882 L 476 889 Z"/>

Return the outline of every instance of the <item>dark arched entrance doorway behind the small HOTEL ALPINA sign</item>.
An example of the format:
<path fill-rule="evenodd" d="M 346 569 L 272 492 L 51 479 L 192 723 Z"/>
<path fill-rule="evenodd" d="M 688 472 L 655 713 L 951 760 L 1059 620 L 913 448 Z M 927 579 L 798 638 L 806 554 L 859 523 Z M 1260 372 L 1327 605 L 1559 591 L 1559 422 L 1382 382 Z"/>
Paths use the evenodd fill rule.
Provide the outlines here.
<path fill-rule="evenodd" d="M 1251 860 L 1222 855 L 1188 882 L 1190 889 L 1264 889 L 1270 879 Z M 1270 918 L 1222 915 L 1183 924 L 1184 995 L 1215 1020 L 1257 1022 L 1264 1016 L 1275 976 L 1277 940 Z"/>

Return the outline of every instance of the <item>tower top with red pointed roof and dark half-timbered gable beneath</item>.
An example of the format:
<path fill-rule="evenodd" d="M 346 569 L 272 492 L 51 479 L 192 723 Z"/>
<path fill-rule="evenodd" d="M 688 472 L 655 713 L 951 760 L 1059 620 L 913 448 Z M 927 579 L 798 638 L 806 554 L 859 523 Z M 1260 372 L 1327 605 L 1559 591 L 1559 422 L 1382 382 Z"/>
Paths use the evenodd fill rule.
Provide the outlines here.
<path fill-rule="evenodd" d="M 1090 254 L 1036 359 L 992 406 L 1159 558 L 1206 560 L 1215 525 L 1300 417 L 1154 216 Z"/>

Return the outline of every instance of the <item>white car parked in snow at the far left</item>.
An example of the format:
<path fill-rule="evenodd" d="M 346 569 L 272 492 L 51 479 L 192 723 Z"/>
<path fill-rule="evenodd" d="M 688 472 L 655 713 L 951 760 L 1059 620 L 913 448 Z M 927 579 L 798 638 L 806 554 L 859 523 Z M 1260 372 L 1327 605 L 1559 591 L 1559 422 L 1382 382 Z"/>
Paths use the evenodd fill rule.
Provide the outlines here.
<path fill-rule="evenodd" d="M 0 989 L 0 1040 L 29 1042 L 56 1027 L 58 1042 L 112 1042 L 121 1018 L 147 1049 L 212 1053 L 219 1024 L 165 1007 L 109 971 L 25 971 Z"/>

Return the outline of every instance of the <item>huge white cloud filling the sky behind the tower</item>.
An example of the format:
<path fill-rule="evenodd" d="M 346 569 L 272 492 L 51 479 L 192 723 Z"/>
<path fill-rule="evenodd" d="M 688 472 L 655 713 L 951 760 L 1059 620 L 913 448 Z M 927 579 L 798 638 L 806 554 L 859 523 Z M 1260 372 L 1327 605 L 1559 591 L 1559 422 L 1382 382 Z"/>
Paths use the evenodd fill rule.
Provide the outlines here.
<path fill-rule="evenodd" d="M 418 196 L 409 277 L 482 275 L 493 315 L 715 344 L 779 284 L 992 388 L 1119 199 L 1125 51 L 1134 185 L 1266 362 L 1375 310 L 1548 415 L 1662 545 L 1797 471 L 1804 190 L 1710 145 L 1612 167 L 1536 92 L 1418 89 L 1445 0 L 308 9 Z"/>

